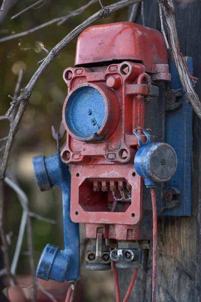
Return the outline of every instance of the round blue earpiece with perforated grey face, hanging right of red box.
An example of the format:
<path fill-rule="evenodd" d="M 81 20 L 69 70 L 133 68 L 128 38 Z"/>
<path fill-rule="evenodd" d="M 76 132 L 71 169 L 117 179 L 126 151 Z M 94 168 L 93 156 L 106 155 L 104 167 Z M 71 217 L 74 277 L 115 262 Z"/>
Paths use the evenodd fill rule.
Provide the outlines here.
<path fill-rule="evenodd" d="M 153 142 L 138 150 L 134 160 L 136 172 L 147 187 L 168 181 L 175 173 L 177 157 L 174 149 L 164 142 Z"/>

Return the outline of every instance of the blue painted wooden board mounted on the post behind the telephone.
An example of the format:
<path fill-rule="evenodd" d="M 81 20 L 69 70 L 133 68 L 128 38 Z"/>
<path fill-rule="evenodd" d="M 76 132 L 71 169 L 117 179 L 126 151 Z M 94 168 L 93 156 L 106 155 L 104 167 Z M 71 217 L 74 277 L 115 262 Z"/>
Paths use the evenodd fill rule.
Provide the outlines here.
<path fill-rule="evenodd" d="M 190 74 L 192 74 L 191 57 L 187 58 L 186 64 Z M 172 60 L 169 65 L 172 77 L 170 89 L 182 88 Z M 192 107 L 185 101 L 184 94 L 179 102 L 182 103 L 181 109 L 167 111 L 166 115 L 166 142 L 174 148 L 178 159 L 177 170 L 166 184 L 177 187 L 181 191 L 181 195 L 176 198 L 176 200 L 181 201 L 181 204 L 175 209 L 164 210 L 163 216 L 191 215 Z"/>

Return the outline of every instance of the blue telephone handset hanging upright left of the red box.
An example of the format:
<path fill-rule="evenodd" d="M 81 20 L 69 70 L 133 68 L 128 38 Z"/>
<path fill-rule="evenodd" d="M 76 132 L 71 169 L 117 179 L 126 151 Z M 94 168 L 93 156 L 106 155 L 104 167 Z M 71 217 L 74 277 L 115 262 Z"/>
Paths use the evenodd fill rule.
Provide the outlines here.
<path fill-rule="evenodd" d="M 38 278 L 58 282 L 75 281 L 79 276 L 79 225 L 70 219 L 70 173 L 58 154 L 33 158 L 33 168 L 41 191 L 53 186 L 62 189 L 64 250 L 47 244 L 38 263 Z"/>

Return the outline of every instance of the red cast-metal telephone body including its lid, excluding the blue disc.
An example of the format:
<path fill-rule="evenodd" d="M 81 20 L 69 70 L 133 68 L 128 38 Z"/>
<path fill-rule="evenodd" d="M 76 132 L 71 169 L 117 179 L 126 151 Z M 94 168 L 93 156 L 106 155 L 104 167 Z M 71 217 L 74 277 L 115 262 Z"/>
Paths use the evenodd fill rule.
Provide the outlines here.
<path fill-rule="evenodd" d="M 146 141 L 144 102 L 158 92 L 151 79 L 170 80 L 165 41 L 158 31 L 129 22 L 93 26 L 78 38 L 75 65 L 63 73 L 67 140 L 61 158 L 71 164 L 71 220 L 85 223 L 87 238 L 102 229 L 107 239 L 140 240 L 142 180 L 133 165 L 133 129 Z M 87 137 L 66 121 L 68 102 L 82 87 L 96 89 L 106 108 L 102 126 Z M 122 198 L 115 209 L 114 197 Z"/>

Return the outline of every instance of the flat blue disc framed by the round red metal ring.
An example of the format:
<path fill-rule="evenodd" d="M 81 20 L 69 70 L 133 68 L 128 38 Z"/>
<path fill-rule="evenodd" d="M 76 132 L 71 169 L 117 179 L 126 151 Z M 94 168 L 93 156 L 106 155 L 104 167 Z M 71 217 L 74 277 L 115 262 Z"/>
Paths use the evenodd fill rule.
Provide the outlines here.
<path fill-rule="evenodd" d="M 65 119 L 74 135 L 88 137 L 102 126 L 105 114 L 106 105 L 103 96 L 95 88 L 85 86 L 78 88 L 70 96 Z"/>

